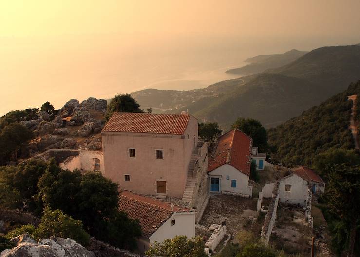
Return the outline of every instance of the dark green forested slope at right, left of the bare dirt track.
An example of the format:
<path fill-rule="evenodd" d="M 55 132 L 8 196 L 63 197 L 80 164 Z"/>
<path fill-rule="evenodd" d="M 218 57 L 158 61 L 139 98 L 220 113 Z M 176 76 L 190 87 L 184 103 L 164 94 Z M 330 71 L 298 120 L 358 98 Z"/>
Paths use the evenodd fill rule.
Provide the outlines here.
<path fill-rule="evenodd" d="M 352 101 L 347 97 L 352 94 L 360 97 L 360 81 L 302 115 L 269 129 L 269 144 L 277 148 L 272 157 L 286 165 L 311 166 L 315 156 L 326 150 L 354 148 L 348 128 Z"/>

